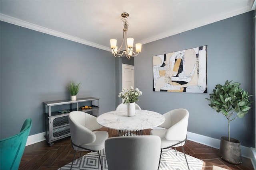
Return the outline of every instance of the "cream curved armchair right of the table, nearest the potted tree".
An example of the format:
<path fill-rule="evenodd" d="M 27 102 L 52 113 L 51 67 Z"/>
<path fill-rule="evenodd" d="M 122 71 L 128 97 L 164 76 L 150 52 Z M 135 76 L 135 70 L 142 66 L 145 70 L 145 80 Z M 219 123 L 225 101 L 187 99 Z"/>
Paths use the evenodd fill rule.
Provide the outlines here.
<path fill-rule="evenodd" d="M 150 131 L 150 135 L 156 135 L 161 138 L 161 154 L 159 159 L 158 168 L 160 166 L 161 155 L 163 149 L 175 147 L 182 147 L 187 165 L 188 161 L 184 151 L 184 145 L 187 139 L 188 129 L 188 110 L 186 109 L 174 109 L 164 113 L 165 121 L 159 127 L 164 129 L 153 129 Z M 177 152 L 176 152 L 177 155 Z M 189 170 L 189 166 L 188 166 Z"/>

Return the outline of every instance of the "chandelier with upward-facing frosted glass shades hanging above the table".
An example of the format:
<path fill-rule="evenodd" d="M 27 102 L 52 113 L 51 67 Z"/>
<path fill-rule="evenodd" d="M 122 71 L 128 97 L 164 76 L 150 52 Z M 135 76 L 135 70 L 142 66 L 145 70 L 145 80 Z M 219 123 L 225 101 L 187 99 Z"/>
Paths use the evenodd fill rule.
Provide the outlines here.
<path fill-rule="evenodd" d="M 110 39 L 110 46 L 112 49 L 112 54 L 114 54 L 115 57 L 121 57 L 123 54 L 130 59 L 130 57 L 137 56 L 141 52 L 141 43 L 135 44 L 136 47 L 136 53 L 134 53 L 133 50 L 133 38 L 127 38 L 127 31 L 128 31 L 128 22 L 126 21 L 126 18 L 129 16 L 127 12 L 123 12 L 121 14 L 123 18 L 121 20 L 124 22 L 124 29 L 123 29 L 123 40 L 120 48 L 116 46 L 117 40 L 116 39 Z M 121 51 L 122 46 L 125 43 L 125 50 Z"/>

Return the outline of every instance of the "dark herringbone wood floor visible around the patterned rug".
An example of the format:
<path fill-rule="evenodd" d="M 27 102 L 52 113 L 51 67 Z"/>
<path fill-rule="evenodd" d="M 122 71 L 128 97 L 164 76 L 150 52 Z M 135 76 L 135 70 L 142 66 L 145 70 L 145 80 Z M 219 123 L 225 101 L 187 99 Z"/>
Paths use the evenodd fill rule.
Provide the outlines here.
<path fill-rule="evenodd" d="M 107 131 L 109 137 L 118 136 L 117 131 L 102 127 L 102 131 Z M 149 135 L 150 129 L 144 130 L 144 135 Z M 204 161 L 202 170 L 253 170 L 250 159 L 243 158 L 240 165 L 229 164 L 218 155 L 218 149 L 208 147 L 193 141 L 187 140 L 184 146 L 186 154 L 194 156 Z M 181 148 L 177 150 L 182 152 Z M 88 152 L 83 152 L 82 155 Z M 57 170 L 58 168 L 72 161 L 74 150 L 70 144 L 70 137 L 54 142 L 50 147 L 46 141 L 26 146 L 19 170 Z M 76 154 L 76 159 L 80 153 Z"/>

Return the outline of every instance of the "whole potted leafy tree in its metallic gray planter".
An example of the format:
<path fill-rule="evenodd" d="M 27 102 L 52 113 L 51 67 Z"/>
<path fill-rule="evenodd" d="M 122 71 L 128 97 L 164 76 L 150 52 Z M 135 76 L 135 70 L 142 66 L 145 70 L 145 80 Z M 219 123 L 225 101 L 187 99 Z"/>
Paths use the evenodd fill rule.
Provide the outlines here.
<path fill-rule="evenodd" d="M 210 98 L 209 106 L 222 113 L 228 120 L 228 137 L 221 137 L 220 140 L 220 157 L 232 164 L 241 164 L 240 141 L 230 137 L 230 122 L 237 117 L 244 117 L 248 110 L 251 109 L 248 92 L 240 88 L 241 83 L 226 80 L 224 85 L 217 84 Z M 236 114 L 235 114 L 236 113 Z"/>

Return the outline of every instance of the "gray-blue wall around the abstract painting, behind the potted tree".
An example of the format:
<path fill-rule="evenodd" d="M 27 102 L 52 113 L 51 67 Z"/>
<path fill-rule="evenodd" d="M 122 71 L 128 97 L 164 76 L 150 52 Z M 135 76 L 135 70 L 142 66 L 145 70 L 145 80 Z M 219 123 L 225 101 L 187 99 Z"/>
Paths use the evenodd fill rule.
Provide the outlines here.
<path fill-rule="evenodd" d="M 253 12 L 218 21 L 184 33 L 144 44 L 142 53 L 135 57 L 135 87 L 143 95 L 137 102 L 142 109 L 166 113 L 172 109 L 188 109 L 188 131 L 216 139 L 228 135 L 226 117 L 211 109 L 209 97 L 216 84 L 226 80 L 241 82 L 242 88 L 254 92 Z M 207 94 L 153 92 L 154 55 L 171 53 L 208 45 Z M 255 109 L 242 119 L 232 121 L 230 135 L 241 145 L 254 146 Z"/>

